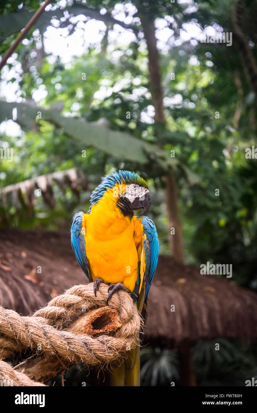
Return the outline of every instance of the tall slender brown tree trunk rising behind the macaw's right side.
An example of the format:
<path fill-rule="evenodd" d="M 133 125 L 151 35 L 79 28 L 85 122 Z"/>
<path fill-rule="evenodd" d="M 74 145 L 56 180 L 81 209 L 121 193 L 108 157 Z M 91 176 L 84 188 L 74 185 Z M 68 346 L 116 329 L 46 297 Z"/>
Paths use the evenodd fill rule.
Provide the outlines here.
<path fill-rule="evenodd" d="M 163 90 L 161 86 L 161 73 L 159 64 L 159 53 L 155 37 L 154 20 L 150 20 L 144 13 L 143 0 L 139 0 L 138 10 L 140 21 L 144 31 L 145 41 L 148 49 L 148 69 L 150 77 L 150 92 L 154 104 L 154 121 L 165 125 L 165 114 L 163 106 Z M 158 135 L 157 135 L 158 137 Z M 178 190 L 173 171 L 164 177 L 166 182 L 165 202 L 168 215 L 169 242 L 173 257 L 179 263 L 184 262 L 182 228 L 178 210 Z M 171 227 L 175 228 L 175 235 L 171 235 Z"/>

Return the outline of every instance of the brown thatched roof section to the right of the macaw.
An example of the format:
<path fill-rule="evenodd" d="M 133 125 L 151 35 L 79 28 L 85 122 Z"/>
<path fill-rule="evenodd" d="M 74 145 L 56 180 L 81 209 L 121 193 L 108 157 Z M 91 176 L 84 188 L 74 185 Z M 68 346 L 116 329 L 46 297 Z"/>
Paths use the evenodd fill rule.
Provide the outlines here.
<path fill-rule="evenodd" d="M 147 307 L 146 339 L 164 345 L 184 339 L 257 338 L 257 294 L 217 275 L 160 256 Z M 175 311 L 171 312 L 171 305 Z"/>

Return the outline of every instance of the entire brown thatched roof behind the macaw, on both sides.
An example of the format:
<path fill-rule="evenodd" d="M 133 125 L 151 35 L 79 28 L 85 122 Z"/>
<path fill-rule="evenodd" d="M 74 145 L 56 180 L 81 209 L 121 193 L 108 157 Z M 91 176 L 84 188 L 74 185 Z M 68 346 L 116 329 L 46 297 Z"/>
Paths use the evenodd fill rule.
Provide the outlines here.
<path fill-rule="evenodd" d="M 0 240 L 2 306 L 26 315 L 51 295 L 86 282 L 68 232 L 2 229 Z M 233 278 L 200 275 L 198 268 L 167 256 L 159 257 L 147 312 L 145 343 L 172 346 L 183 339 L 257 337 L 257 294 L 238 287 Z"/>

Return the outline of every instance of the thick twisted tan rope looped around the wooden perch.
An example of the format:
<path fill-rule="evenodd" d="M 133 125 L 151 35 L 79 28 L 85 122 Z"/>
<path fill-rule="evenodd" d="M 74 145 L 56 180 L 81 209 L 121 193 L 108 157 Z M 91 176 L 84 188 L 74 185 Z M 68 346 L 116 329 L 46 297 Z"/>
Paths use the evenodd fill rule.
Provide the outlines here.
<path fill-rule="evenodd" d="M 114 293 L 108 303 L 111 309 L 117 311 L 121 321 L 121 327 L 113 335 L 91 337 L 61 330 L 75 316 L 105 307 L 107 290 L 108 285 L 101 284 L 95 297 L 93 283 L 75 285 L 28 317 L 0 307 L 0 359 L 17 350 L 30 348 L 36 351 L 40 343 L 45 355 L 72 363 L 82 361 L 87 365 L 101 365 L 117 361 L 128 348 L 133 349 L 139 344 L 140 316 L 127 292 Z M 13 385 L 43 386 L 1 361 L 0 380 L 10 379 Z"/>

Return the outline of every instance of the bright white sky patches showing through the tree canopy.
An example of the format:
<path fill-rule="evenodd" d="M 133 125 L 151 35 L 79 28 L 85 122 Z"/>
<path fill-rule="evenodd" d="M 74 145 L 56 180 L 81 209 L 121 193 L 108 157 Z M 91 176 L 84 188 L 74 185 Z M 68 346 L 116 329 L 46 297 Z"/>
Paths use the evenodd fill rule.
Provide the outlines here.
<path fill-rule="evenodd" d="M 65 7 L 69 2 L 61 0 L 57 5 Z M 192 1 L 189 0 L 180 0 L 180 4 L 188 4 L 187 9 L 188 13 L 194 12 L 196 7 L 190 6 Z M 49 9 L 56 9 L 57 5 L 47 6 L 46 11 Z M 129 16 L 126 17 L 124 11 L 129 12 Z M 138 21 L 137 17 L 133 17 L 133 14 L 136 13 L 136 7 L 131 4 L 122 4 L 115 5 L 112 16 L 119 21 L 124 21 L 126 24 L 136 24 Z M 105 14 L 106 10 L 103 8 L 101 14 Z M 87 21 L 86 21 L 87 20 Z M 160 52 L 166 54 L 172 44 L 175 41 L 175 45 L 178 45 L 178 42 L 182 44 L 183 42 L 189 41 L 191 39 L 192 44 L 196 44 L 196 40 L 199 40 L 199 36 L 202 32 L 200 25 L 196 22 L 190 22 L 183 25 L 183 29 L 180 31 L 180 40 L 174 40 L 173 33 L 174 31 L 167 27 L 168 21 L 174 20 L 173 17 L 167 16 L 166 19 L 157 19 L 155 21 L 155 26 L 157 28 L 156 37 L 157 47 Z M 79 23 L 77 23 L 79 22 Z M 86 19 L 84 15 L 79 15 L 72 17 L 70 19 L 71 24 L 77 23 L 74 33 L 68 36 L 68 28 L 58 28 L 59 22 L 57 20 L 52 20 L 52 26 L 47 27 L 47 31 L 44 33 L 44 49 L 45 52 L 49 55 L 47 57 L 49 63 L 54 64 L 56 58 L 59 56 L 61 62 L 65 63 L 65 68 L 69 68 L 70 64 L 74 61 L 74 58 L 82 56 L 88 51 L 90 45 L 94 47 L 99 47 L 105 34 L 106 26 L 102 21 L 96 21 L 95 19 Z M 216 30 L 220 31 L 220 26 L 217 25 Z M 215 33 L 215 28 L 208 26 L 205 28 L 205 32 L 209 35 Z M 34 38 L 38 35 L 38 30 L 35 30 L 33 33 Z M 136 40 L 135 34 L 127 29 L 122 28 L 121 26 L 114 24 L 114 29 L 110 30 L 108 33 L 108 47 L 107 52 L 117 56 L 116 48 L 125 50 L 128 48 L 129 44 L 132 41 Z M 29 44 L 28 39 L 24 39 L 22 42 L 24 45 Z M 142 47 L 145 47 L 145 43 L 141 41 Z M 37 42 L 37 48 L 40 48 L 41 43 Z M 96 49 L 97 50 L 97 49 Z M 7 102 L 21 102 L 22 98 L 19 96 L 19 80 L 20 74 L 22 74 L 21 64 L 16 61 L 17 54 L 14 53 L 12 57 L 8 59 L 8 63 L 13 64 L 12 69 L 9 69 L 5 66 L 2 70 L 2 82 L 0 85 L 0 97 L 4 97 Z M 195 61 L 192 60 L 192 64 L 195 64 Z M 10 82 L 10 79 L 16 78 L 16 81 Z M 126 80 L 125 80 L 126 82 Z M 58 90 L 58 85 L 56 86 Z M 100 87 L 98 92 L 95 93 L 97 99 L 103 100 L 106 96 L 112 93 L 112 88 Z M 34 90 L 32 97 L 35 102 L 40 102 L 44 97 L 47 96 L 47 91 L 45 90 L 44 84 L 41 84 L 37 89 Z M 180 104 L 182 101 L 182 96 L 180 94 L 175 95 L 169 104 Z M 167 104 L 167 99 L 166 99 Z M 154 112 L 150 106 L 148 112 L 142 113 L 142 120 L 152 123 Z M 3 121 L 0 124 L 0 133 L 6 133 L 9 136 L 19 136 L 21 128 L 14 121 Z"/>

